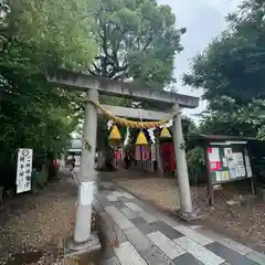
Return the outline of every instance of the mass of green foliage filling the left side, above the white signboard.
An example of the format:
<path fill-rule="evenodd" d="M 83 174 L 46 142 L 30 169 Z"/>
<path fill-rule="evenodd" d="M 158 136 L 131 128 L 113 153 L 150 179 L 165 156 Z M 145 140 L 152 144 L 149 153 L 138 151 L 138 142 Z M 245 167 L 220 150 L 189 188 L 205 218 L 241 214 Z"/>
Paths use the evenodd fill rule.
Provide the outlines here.
<path fill-rule="evenodd" d="M 7 168 L 13 166 L 20 147 L 33 148 L 34 155 L 45 158 L 64 150 L 78 119 L 72 99 L 46 83 L 44 71 L 50 66 L 87 67 L 96 45 L 91 1 L 0 1 L 0 12 L 3 9 L 0 165 Z"/>

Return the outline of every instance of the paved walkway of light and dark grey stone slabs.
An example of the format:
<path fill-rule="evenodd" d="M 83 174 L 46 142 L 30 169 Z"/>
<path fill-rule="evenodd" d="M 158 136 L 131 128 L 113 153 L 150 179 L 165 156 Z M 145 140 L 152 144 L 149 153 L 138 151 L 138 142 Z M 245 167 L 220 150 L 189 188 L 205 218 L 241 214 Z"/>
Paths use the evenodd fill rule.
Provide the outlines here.
<path fill-rule="evenodd" d="M 103 265 L 264 265 L 265 255 L 162 214 L 116 187 L 98 191 L 94 208 L 107 234 Z"/>

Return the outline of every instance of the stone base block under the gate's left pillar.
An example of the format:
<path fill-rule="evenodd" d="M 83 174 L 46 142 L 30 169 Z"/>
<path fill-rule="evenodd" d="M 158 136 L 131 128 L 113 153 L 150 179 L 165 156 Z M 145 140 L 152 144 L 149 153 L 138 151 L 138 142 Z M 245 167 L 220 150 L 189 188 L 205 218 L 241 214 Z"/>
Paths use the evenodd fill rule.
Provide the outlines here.
<path fill-rule="evenodd" d="M 100 242 L 97 234 L 91 234 L 88 241 L 84 243 L 77 243 L 73 237 L 65 240 L 64 250 L 65 256 L 80 256 L 84 254 L 93 254 L 100 250 Z"/>

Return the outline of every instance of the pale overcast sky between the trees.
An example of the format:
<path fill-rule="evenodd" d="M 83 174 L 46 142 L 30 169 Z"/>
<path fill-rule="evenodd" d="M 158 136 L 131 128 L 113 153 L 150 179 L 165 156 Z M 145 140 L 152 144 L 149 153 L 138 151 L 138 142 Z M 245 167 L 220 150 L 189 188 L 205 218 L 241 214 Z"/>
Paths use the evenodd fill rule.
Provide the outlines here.
<path fill-rule="evenodd" d="M 158 2 L 172 8 L 177 18 L 177 26 L 187 28 L 187 33 L 181 40 L 184 51 L 177 55 L 174 64 L 178 92 L 200 96 L 202 91 L 192 91 L 183 86 L 180 77 L 189 71 L 190 59 L 202 52 L 208 43 L 226 28 L 224 17 L 234 11 L 241 0 L 158 0 Z M 204 108 L 205 103 L 201 102 L 199 108 L 187 109 L 186 113 L 200 113 Z"/>

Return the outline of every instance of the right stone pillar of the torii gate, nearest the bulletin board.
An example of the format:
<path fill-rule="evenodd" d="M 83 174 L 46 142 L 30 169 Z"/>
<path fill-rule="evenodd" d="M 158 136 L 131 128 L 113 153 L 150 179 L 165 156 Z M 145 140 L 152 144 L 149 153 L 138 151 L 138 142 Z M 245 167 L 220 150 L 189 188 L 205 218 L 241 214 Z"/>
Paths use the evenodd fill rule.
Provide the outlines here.
<path fill-rule="evenodd" d="M 181 214 L 192 215 L 192 200 L 190 191 L 190 181 L 186 160 L 184 139 L 181 124 L 181 112 L 178 104 L 173 106 L 173 142 L 174 156 L 178 174 L 178 184 L 180 192 Z"/>

